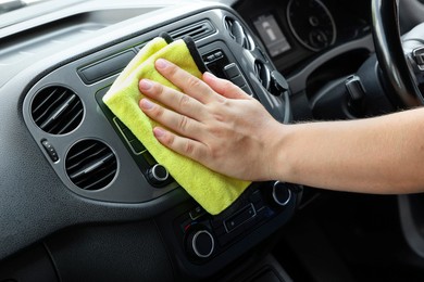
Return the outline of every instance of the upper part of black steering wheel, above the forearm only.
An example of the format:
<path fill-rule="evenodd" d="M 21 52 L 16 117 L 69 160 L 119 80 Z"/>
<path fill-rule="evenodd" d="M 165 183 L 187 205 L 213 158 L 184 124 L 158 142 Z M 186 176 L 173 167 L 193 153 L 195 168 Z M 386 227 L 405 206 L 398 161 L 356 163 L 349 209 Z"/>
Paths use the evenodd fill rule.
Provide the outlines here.
<path fill-rule="evenodd" d="M 424 76 L 424 24 L 409 39 L 414 44 L 402 47 L 398 11 L 399 0 L 372 0 L 372 31 L 386 85 L 399 106 L 413 107 L 424 104 L 419 88 Z"/>

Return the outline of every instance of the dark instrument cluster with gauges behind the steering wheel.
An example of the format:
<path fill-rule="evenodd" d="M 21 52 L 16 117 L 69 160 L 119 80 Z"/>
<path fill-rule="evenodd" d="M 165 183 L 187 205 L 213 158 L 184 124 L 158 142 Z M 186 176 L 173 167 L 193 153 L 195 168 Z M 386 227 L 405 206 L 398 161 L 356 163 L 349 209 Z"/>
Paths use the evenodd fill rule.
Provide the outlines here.
<path fill-rule="evenodd" d="M 324 52 L 370 35 L 367 1 L 241 1 L 236 9 L 285 75 Z M 280 49 L 274 50 L 274 42 Z"/>

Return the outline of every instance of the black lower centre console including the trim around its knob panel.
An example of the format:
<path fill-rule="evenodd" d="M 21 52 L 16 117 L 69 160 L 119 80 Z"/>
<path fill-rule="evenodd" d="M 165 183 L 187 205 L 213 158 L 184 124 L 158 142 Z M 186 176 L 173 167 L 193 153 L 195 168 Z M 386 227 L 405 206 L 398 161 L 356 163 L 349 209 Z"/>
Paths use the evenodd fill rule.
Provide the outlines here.
<path fill-rule="evenodd" d="M 278 181 L 254 183 L 217 216 L 186 202 L 157 222 L 182 275 L 202 279 L 284 226 L 294 215 L 301 191 L 299 185 Z"/>

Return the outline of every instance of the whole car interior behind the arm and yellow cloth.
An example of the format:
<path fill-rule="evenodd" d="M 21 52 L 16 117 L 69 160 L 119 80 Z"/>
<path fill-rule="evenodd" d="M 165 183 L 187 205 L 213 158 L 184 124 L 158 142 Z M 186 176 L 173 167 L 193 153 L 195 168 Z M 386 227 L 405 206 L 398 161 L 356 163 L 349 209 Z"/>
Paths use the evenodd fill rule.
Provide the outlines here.
<path fill-rule="evenodd" d="M 0 282 L 423 281 L 423 195 L 263 181 L 211 215 L 102 101 L 166 33 L 284 124 L 417 107 L 423 22 L 423 0 L 0 1 Z"/>

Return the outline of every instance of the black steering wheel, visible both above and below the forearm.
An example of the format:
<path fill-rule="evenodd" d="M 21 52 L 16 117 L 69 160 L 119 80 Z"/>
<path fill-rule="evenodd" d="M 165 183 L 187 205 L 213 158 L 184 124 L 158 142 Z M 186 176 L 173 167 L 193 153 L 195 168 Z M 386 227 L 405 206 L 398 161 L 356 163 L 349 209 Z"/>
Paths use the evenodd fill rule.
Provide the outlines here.
<path fill-rule="evenodd" d="M 424 91 L 419 87 L 424 80 L 424 23 L 401 40 L 398 9 L 398 0 L 372 0 L 372 31 L 384 81 L 395 93 L 398 105 L 413 107 L 424 104 Z M 424 257 L 424 236 L 420 229 L 423 219 L 421 209 L 416 208 L 422 205 L 422 197 L 399 195 L 398 201 L 404 239 L 419 256 Z"/>

